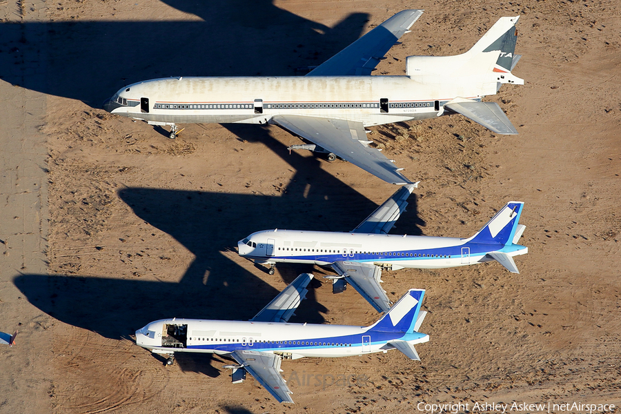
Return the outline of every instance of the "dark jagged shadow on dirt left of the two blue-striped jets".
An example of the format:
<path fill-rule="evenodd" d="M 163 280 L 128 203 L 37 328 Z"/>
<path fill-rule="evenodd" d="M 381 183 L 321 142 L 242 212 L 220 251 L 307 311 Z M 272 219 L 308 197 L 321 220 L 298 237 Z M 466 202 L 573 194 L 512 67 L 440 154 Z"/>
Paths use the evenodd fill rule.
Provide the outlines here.
<path fill-rule="evenodd" d="M 275 149 L 286 152 L 282 144 Z M 164 317 L 250 319 L 278 291 L 229 259 L 237 255 L 237 240 L 269 228 L 347 231 L 377 208 L 318 168 L 314 157 L 294 153 L 290 160 L 298 172 L 281 195 L 160 188 L 119 191 L 119 198 L 138 217 L 195 255 L 179 283 L 70 275 L 20 275 L 14 283 L 41 311 L 113 339 L 127 337 L 143 324 Z M 424 222 L 417 217 L 415 195 L 408 202 L 399 233 L 421 234 L 418 226 Z M 339 213 L 326 213 L 326 204 Z M 279 266 L 287 284 L 299 273 L 312 270 L 309 265 Z M 313 283 L 313 287 L 321 285 Z M 310 300 L 298 308 L 292 322 L 324 322 L 320 313 L 326 308 L 317 304 L 312 289 L 307 297 Z"/>

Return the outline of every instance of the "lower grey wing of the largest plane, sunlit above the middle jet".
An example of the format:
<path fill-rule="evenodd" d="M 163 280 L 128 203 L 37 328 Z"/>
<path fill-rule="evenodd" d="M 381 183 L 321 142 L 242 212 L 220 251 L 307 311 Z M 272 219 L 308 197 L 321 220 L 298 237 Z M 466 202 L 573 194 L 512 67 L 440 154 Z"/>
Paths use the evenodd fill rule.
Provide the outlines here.
<path fill-rule="evenodd" d="M 272 121 L 388 183 L 412 184 L 393 161 L 368 146 L 362 122 L 299 115 L 276 115 Z"/>

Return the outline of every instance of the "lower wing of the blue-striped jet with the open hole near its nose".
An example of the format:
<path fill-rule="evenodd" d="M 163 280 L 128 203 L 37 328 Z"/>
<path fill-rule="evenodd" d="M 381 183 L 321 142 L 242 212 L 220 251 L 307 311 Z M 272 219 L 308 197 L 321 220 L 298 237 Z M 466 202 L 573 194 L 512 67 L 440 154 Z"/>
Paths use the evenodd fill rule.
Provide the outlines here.
<path fill-rule="evenodd" d="M 244 369 L 269 391 L 278 402 L 293 402 L 290 394 L 293 394 L 287 382 L 280 373 L 279 355 L 274 355 L 258 351 L 235 351 L 231 354 L 238 364 L 242 364 Z"/>

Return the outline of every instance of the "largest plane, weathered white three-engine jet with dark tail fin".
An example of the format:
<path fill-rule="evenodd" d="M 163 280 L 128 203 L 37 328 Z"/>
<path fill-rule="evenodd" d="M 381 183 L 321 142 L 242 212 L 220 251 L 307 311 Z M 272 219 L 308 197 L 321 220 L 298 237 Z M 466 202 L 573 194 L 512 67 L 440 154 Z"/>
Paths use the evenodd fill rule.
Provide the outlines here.
<path fill-rule="evenodd" d="M 116 115 L 152 125 L 275 124 L 312 144 L 292 146 L 340 157 L 393 184 L 411 184 L 366 126 L 459 113 L 498 134 L 517 134 L 497 103 L 483 102 L 511 74 L 518 17 L 501 17 L 462 55 L 411 56 L 404 76 L 370 76 L 422 10 L 384 21 L 305 77 L 174 77 L 133 83 L 103 103 Z"/>

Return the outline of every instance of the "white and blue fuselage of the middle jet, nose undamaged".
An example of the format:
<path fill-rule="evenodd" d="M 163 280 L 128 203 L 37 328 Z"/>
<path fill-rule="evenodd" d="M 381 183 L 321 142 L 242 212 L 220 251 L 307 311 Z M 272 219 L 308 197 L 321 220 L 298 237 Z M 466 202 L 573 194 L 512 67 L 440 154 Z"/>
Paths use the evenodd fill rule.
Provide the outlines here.
<path fill-rule="evenodd" d="M 400 268 L 449 268 L 489 262 L 487 253 L 524 255 L 518 244 L 482 244 L 457 237 L 429 237 L 300 230 L 264 230 L 237 243 L 239 255 L 259 263 L 367 262 Z"/>

